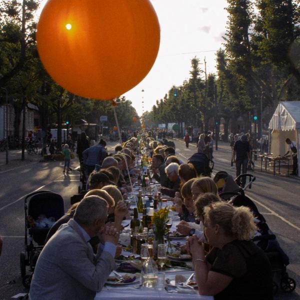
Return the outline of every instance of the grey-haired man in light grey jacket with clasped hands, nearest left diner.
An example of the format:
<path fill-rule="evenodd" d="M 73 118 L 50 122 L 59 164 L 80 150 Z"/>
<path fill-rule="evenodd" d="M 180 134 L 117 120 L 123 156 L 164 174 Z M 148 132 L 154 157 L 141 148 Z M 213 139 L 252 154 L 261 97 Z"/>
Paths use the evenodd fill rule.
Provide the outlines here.
<path fill-rule="evenodd" d="M 112 269 L 118 232 L 105 226 L 107 202 L 88 196 L 78 204 L 73 219 L 63 224 L 43 247 L 33 273 L 31 300 L 93 300 Z M 93 254 L 89 239 L 98 235 Z"/>

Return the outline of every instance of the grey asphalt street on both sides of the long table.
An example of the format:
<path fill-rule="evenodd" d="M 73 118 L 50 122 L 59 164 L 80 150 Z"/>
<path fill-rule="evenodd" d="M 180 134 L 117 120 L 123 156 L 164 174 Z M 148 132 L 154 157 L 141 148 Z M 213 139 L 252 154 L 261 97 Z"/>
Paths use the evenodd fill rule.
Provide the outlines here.
<path fill-rule="evenodd" d="M 186 161 L 195 147 L 188 149 L 182 141 L 175 141 L 178 157 Z M 108 147 L 108 150 L 111 147 Z M 2 155 L 2 153 L 0 153 Z M 225 170 L 235 175 L 230 167 L 230 149 L 221 144 L 214 151 L 214 170 Z M 0 166 L 0 234 L 3 237 L 3 249 L 0 256 L 0 300 L 26 292 L 22 286 L 19 268 L 19 253 L 24 248 L 24 195 L 34 190 L 51 190 L 61 194 L 65 210 L 69 207 L 70 196 L 77 193 L 79 173 L 72 171 L 69 175 L 62 173 L 62 162 L 15 162 L 12 168 Z M 77 159 L 71 161 L 72 167 L 78 165 Z M 269 227 L 276 234 L 280 245 L 287 253 L 290 264 L 287 271 L 290 277 L 300 284 L 300 219 L 299 194 L 300 180 L 293 177 L 273 176 L 271 173 L 253 172 L 256 181 L 247 195 L 264 215 Z M 279 292 L 276 300 L 300 299 L 300 289 L 292 293 Z"/>

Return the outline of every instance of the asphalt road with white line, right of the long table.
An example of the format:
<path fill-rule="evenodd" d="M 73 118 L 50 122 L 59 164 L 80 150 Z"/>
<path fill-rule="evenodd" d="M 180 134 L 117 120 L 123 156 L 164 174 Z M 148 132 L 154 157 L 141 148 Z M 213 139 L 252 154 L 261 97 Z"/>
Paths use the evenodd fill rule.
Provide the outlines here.
<path fill-rule="evenodd" d="M 183 161 L 196 151 L 191 144 L 186 149 L 183 141 L 176 140 L 175 144 L 176 154 Z M 221 143 L 213 156 L 213 174 L 224 170 L 235 177 L 235 168 L 230 167 L 231 151 L 227 143 Z M 289 256 L 287 271 L 298 284 L 294 292 L 278 293 L 275 299 L 300 299 L 300 180 L 260 172 L 260 165 L 252 173 L 256 176 L 256 181 L 246 194 L 255 201 L 258 210 L 264 215 L 281 247 Z"/>

